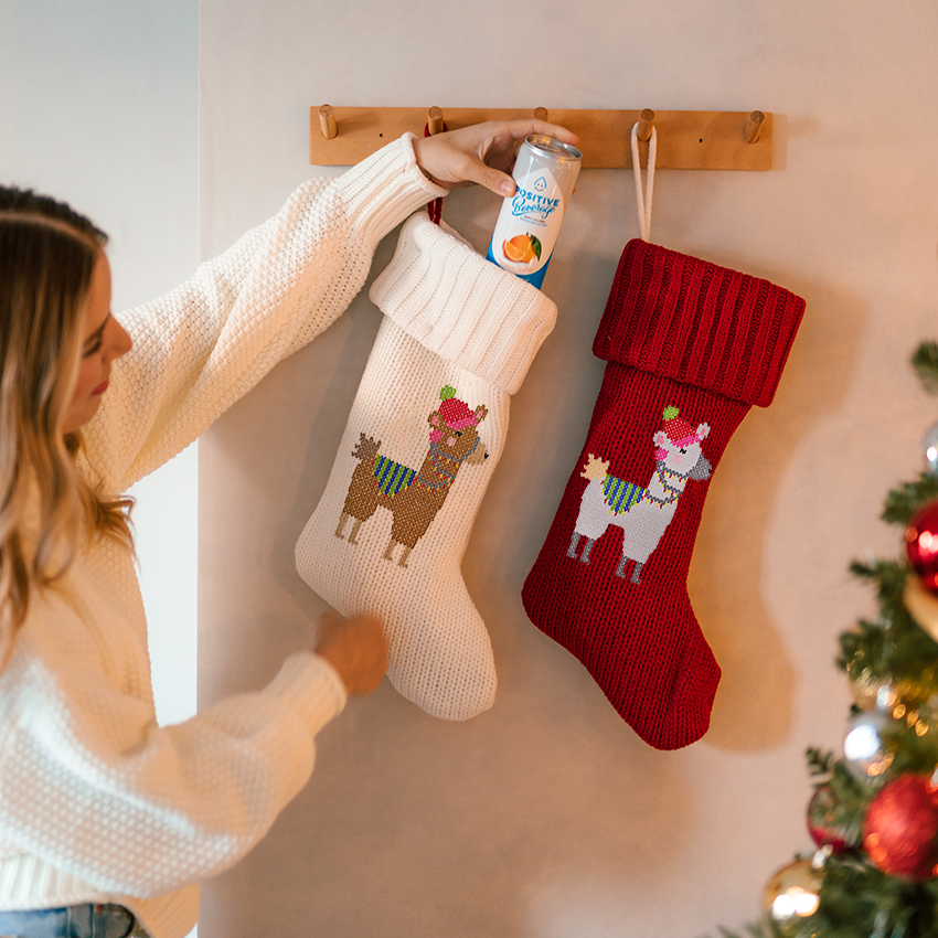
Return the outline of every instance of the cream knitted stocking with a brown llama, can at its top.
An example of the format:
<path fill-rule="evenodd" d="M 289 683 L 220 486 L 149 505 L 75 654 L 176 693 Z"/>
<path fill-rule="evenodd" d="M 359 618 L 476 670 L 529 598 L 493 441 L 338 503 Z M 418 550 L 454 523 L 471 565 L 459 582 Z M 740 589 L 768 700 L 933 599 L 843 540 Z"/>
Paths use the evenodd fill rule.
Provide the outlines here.
<path fill-rule="evenodd" d="M 297 569 L 343 615 L 386 622 L 405 697 L 467 720 L 492 705 L 495 670 L 459 567 L 556 307 L 424 214 L 370 296 L 386 318 Z"/>

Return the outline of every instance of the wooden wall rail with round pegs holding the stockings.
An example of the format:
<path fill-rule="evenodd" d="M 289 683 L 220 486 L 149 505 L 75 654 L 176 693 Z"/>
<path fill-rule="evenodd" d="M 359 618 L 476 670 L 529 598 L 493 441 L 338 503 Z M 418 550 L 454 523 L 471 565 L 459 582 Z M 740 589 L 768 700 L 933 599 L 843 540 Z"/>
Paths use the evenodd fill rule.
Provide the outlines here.
<path fill-rule="evenodd" d="M 580 138 L 585 168 L 631 168 L 632 125 L 639 121 L 639 156 L 644 166 L 653 127 L 657 169 L 771 169 L 771 114 L 760 110 L 547 110 L 539 107 L 311 107 L 309 161 L 352 166 L 411 131 L 424 136 L 482 120 L 537 116 L 568 127 Z"/>

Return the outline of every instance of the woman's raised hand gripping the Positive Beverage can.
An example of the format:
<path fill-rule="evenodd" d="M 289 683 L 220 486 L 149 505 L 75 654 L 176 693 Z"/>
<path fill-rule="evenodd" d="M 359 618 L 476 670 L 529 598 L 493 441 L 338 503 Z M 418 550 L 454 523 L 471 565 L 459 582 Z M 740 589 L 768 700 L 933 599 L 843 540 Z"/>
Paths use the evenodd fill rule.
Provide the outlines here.
<path fill-rule="evenodd" d="M 444 189 L 478 182 L 502 198 L 514 195 L 509 175 L 521 141 L 529 134 L 545 134 L 564 143 L 579 143 L 565 127 L 543 120 L 488 120 L 459 130 L 414 140 L 417 166 Z"/>

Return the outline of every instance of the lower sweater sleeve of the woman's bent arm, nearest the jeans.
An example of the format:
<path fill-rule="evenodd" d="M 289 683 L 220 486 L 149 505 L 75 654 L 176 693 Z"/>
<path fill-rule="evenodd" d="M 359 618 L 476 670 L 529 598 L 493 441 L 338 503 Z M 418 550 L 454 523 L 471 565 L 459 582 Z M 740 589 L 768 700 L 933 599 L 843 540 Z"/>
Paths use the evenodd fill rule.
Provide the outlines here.
<path fill-rule="evenodd" d="M 95 655 L 62 648 L 61 610 L 35 611 L 0 675 L 0 831 L 105 893 L 153 897 L 235 863 L 306 784 L 313 736 L 344 706 L 334 669 L 298 652 L 263 691 L 159 727 Z"/>

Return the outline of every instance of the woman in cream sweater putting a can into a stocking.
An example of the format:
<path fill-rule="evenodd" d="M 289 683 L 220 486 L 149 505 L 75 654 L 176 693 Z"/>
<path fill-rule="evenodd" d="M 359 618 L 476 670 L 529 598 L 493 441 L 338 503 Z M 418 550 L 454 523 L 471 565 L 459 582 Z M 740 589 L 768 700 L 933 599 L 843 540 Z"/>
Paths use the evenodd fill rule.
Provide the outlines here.
<path fill-rule="evenodd" d="M 313 737 L 381 681 L 369 618 L 323 617 L 262 691 L 156 723 L 129 486 L 326 329 L 377 242 L 456 185 L 500 195 L 540 121 L 405 136 L 118 322 L 105 236 L 0 189 L 0 935 L 178 938 L 198 882 L 268 830 Z"/>

